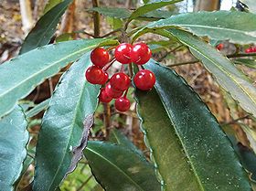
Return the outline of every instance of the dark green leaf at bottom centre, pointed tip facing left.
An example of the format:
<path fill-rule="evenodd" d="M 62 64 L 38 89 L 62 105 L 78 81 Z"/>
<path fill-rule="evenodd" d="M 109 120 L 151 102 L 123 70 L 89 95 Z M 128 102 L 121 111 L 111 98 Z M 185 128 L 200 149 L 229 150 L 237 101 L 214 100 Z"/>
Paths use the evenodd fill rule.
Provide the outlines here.
<path fill-rule="evenodd" d="M 89 142 L 84 151 L 92 174 L 106 191 L 160 191 L 155 171 L 145 158 L 112 143 Z"/>

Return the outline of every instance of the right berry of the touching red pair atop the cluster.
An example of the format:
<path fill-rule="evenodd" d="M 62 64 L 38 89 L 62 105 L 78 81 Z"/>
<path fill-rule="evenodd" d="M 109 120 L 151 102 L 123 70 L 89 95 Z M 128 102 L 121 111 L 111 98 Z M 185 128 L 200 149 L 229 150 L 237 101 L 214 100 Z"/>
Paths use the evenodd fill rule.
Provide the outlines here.
<path fill-rule="evenodd" d="M 150 48 L 141 42 L 133 45 L 131 51 L 131 60 L 134 64 L 143 65 L 150 59 L 151 54 Z"/>

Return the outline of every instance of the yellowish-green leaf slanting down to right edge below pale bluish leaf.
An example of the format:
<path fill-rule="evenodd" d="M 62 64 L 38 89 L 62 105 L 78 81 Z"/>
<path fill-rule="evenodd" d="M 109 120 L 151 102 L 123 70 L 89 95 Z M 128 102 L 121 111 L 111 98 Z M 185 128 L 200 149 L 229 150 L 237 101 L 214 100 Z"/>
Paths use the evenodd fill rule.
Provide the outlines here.
<path fill-rule="evenodd" d="M 170 32 L 190 48 L 192 54 L 214 75 L 219 86 L 229 91 L 234 100 L 239 101 L 241 108 L 256 116 L 256 88 L 251 80 L 228 58 L 199 38 L 182 30 L 171 29 Z"/>

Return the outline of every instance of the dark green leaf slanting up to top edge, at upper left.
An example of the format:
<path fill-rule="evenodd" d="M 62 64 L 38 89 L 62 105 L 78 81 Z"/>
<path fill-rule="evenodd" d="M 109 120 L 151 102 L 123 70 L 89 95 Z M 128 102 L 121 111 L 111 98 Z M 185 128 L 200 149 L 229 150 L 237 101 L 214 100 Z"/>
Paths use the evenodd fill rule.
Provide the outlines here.
<path fill-rule="evenodd" d="M 60 17 L 65 13 L 72 0 L 65 0 L 56 5 L 44 16 L 40 17 L 36 26 L 28 33 L 20 49 L 19 54 L 24 54 L 29 50 L 47 45 L 53 37 Z"/>

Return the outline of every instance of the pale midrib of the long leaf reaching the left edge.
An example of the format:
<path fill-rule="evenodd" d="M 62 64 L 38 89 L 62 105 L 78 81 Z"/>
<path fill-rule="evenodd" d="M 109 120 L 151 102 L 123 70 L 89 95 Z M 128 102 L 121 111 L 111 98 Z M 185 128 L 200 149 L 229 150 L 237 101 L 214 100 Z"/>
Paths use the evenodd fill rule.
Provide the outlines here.
<path fill-rule="evenodd" d="M 7 91 L 4 91 L 4 93 L 0 94 L 0 98 L 1 98 L 1 97 L 4 97 L 4 96 L 5 96 L 6 94 L 8 94 L 9 92 L 11 92 L 12 90 L 16 89 L 16 88 L 19 87 L 21 84 L 25 83 L 27 80 L 31 80 L 31 79 L 37 77 L 38 74 L 40 74 L 40 73 L 42 73 L 42 72 L 48 70 L 48 69 L 51 68 L 52 66 L 58 64 L 59 62 L 65 60 L 65 59 L 68 59 L 68 58 L 70 58 L 70 57 L 72 57 L 72 56 L 74 56 L 74 55 L 76 55 L 76 54 L 79 54 L 80 52 L 83 52 L 83 51 L 85 51 L 86 49 L 90 49 L 90 48 L 93 48 L 93 47 L 95 47 L 95 45 L 94 45 L 94 46 L 91 46 L 91 47 L 82 48 L 82 49 L 80 49 L 80 50 L 78 50 L 78 51 L 76 51 L 76 52 L 73 52 L 73 53 L 69 54 L 68 56 L 66 56 L 66 57 L 64 57 L 64 58 L 60 58 L 59 60 L 57 60 L 57 61 L 55 61 L 55 62 L 52 62 L 52 64 L 48 65 L 48 67 L 46 67 L 46 68 L 44 68 L 44 69 L 41 69 L 41 70 L 38 70 L 37 72 L 34 73 L 34 75 L 29 76 L 29 78 L 27 78 L 27 79 L 25 79 L 25 80 L 21 80 L 19 83 L 16 84 L 16 86 L 13 86 L 13 88 L 11 88 L 11 89 L 9 89 L 9 90 L 7 90 Z M 50 76 L 51 76 L 51 75 L 50 75 Z"/>

